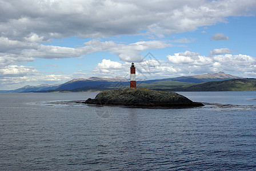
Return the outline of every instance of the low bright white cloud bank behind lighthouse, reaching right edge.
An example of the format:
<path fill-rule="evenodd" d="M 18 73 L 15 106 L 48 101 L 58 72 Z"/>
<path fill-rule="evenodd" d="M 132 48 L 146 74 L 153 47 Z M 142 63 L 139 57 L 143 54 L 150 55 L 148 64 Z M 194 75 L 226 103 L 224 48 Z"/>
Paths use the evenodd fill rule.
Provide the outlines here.
<path fill-rule="evenodd" d="M 172 78 L 178 76 L 191 76 L 195 74 L 213 73 L 224 71 L 228 74 L 255 78 L 256 59 L 248 55 L 213 55 L 212 57 L 202 56 L 197 52 L 179 52 L 174 55 L 167 55 L 167 60 L 145 60 L 135 63 L 138 79 Z M 130 63 L 116 63 L 118 67 L 106 67 L 102 63 L 115 63 L 111 60 L 102 60 L 94 68 L 94 76 L 114 77 L 121 76 L 129 79 Z M 157 65 L 150 65 L 157 63 Z M 239 76 L 239 75 L 238 75 Z"/>

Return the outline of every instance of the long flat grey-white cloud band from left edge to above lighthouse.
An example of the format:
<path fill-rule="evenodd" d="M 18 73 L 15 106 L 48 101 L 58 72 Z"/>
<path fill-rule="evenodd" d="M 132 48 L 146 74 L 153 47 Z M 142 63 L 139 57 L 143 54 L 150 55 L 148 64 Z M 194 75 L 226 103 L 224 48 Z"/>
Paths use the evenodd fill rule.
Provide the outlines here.
<path fill-rule="evenodd" d="M 5 39 L 7 41 L 7 39 Z M 118 44 L 113 41 L 101 42 L 99 40 L 93 39 L 89 42 L 85 42 L 83 47 L 72 48 L 72 47 L 61 47 L 61 46 L 46 46 L 40 44 L 38 46 L 33 46 L 33 48 L 27 49 L 28 47 L 19 47 L 20 42 L 10 41 L 9 44 L 13 44 L 14 51 L 10 51 L 5 46 L 2 48 L 0 54 L 0 61 L 2 63 L 0 66 L 7 66 L 14 62 L 14 64 L 19 64 L 19 62 L 33 61 L 35 58 L 44 59 L 65 59 L 65 58 L 78 58 L 82 55 L 91 54 L 93 52 L 99 51 L 109 51 L 112 54 L 118 55 L 119 59 L 126 62 L 138 62 L 142 60 L 140 52 L 159 49 L 165 47 L 171 47 L 172 44 L 166 43 L 159 40 L 142 41 L 130 44 Z M 1 44 L 1 42 L 0 42 Z M 8 43 L 6 43 L 8 44 Z M 6 47 L 10 47 L 7 46 Z M 13 52 L 13 53 L 11 53 Z"/>

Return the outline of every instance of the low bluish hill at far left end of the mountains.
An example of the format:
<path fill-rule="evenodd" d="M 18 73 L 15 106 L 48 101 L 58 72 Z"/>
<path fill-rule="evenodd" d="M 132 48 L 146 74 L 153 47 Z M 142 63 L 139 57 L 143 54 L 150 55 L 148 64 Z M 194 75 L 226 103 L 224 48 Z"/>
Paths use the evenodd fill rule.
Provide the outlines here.
<path fill-rule="evenodd" d="M 34 92 L 34 91 L 47 91 L 49 89 L 55 89 L 58 85 L 41 84 L 39 86 L 24 86 L 22 88 L 14 89 L 9 92 Z"/>

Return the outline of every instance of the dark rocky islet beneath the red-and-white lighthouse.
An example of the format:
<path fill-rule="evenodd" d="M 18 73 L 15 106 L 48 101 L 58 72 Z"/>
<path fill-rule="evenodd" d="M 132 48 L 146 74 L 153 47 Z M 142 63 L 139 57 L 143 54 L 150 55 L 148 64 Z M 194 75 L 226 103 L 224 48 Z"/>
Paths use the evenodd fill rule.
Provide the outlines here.
<path fill-rule="evenodd" d="M 161 92 L 147 88 L 114 89 L 98 93 L 86 104 L 133 105 L 143 107 L 196 107 L 202 103 L 193 102 L 175 92 Z"/>

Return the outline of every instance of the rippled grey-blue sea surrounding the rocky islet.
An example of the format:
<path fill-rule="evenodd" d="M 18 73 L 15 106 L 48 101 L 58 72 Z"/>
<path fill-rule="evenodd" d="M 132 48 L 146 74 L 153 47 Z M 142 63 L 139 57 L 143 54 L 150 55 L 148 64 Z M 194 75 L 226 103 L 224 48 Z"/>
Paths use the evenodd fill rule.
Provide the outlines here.
<path fill-rule="evenodd" d="M 256 170 L 256 92 L 178 92 L 195 108 L 0 93 L 0 170 Z"/>

